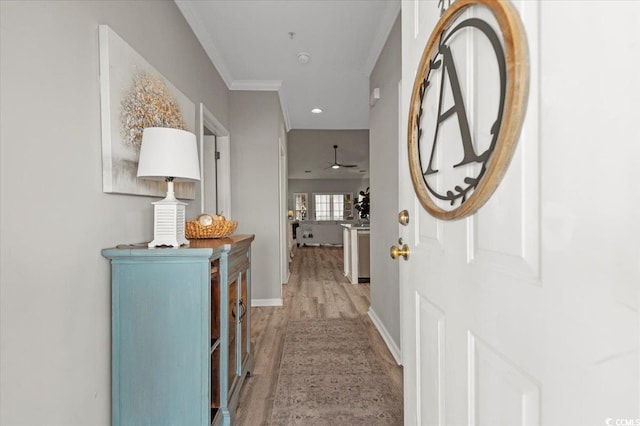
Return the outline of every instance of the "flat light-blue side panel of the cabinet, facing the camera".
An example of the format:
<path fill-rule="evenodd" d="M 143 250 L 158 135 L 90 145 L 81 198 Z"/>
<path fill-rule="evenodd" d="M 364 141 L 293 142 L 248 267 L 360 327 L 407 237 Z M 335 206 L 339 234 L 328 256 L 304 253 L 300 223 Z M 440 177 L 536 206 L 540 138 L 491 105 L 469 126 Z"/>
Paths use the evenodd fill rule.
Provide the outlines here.
<path fill-rule="evenodd" d="M 113 262 L 112 423 L 209 424 L 208 259 Z"/>

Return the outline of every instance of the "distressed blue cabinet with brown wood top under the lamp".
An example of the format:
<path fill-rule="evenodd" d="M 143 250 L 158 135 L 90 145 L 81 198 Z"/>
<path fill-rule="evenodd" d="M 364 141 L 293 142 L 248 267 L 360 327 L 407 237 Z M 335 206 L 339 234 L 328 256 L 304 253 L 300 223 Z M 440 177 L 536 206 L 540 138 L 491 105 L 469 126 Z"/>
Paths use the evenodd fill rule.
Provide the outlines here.
<path fill-rule="evenodd" d="M 119 246 L 112 275 L 112 423 L 231 425 L 251 370 L 252 235 Z"/>

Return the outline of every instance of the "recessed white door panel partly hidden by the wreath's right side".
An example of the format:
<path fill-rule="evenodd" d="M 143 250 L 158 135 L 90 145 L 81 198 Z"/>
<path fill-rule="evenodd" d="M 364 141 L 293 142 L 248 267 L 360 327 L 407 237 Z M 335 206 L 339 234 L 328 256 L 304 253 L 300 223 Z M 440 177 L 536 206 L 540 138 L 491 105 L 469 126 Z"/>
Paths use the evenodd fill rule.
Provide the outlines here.
<path fill-rule="evenodd" d="M 538 76 L 539 3 L 513 3 L 527 30 L 529 73 Z M 509 170 L 492 199 L 467 219 L 467 262 L 541 286 L 540 85 L 537 78 L 529 84 L 527 114 Z"/>

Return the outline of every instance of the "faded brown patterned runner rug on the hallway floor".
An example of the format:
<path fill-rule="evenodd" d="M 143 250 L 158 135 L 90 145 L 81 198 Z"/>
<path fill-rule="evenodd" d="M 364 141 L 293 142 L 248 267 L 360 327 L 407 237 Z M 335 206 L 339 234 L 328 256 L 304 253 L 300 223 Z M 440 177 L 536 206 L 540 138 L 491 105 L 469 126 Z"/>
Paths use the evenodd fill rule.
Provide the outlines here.
<path fill-rule="evenodd" d="M 360 320 L 289 322 L 271 425 L 402 425 Z"/>

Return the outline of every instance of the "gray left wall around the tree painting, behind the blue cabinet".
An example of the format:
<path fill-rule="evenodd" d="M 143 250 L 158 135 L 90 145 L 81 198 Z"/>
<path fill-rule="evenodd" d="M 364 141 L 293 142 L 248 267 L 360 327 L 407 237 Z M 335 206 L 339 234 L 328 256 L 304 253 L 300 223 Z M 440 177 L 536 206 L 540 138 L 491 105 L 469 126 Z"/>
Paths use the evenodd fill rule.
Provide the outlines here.
<path fill-rule="evenodd" d="M 155 199 L 102 192 L 99 24 L 228 126 L 228 90 L 173 2 L 0 2 L 3 425 L 110 424 L 100 250 L 149 241 Z"/>

